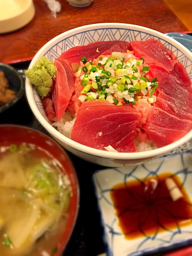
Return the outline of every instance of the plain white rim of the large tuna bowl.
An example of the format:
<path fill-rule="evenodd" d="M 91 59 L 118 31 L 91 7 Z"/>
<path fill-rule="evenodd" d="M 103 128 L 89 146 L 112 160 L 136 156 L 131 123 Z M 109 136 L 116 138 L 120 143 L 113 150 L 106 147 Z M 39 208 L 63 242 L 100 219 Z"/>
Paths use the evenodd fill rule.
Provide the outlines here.
<path fill-rule="evenodd" d="M 181 43 L 175 41 L 173 38 L 162 34 L 158 31 L 142 27 L 142 26 L 137 26 L 137 25 L 131 25 L 131 24 L 125 24 L 125 23 L 99 23 L 99 24 L 94 24 L 94 25 L 86 25 L 82 27 L 77 27 L 75 29 L 66 31 L 57 37 L 51 39 L 49 42 L 47 42 L 38 52 L 35 54 L 33 60 L 30 63 L 29 68 L 31 68 L 36 61 L 40 57 L 42 57 L 46 52 L 53 47 L 56 43 L 60 42 L 61 40 L 68 38 L 70 36 L 73 36 L 74 34 L 81 33 L 86 30 L 94 30 L 94 29 L 106 29 L 106 28 L 118 28 L 118 29 L 132 29 L 132 30 L 138 30 L 141 32 L 153 34 L 159 38 L 162 38 L 166 40 L 167 42 L 171 43 L 174 45 L 177 49 L 181 50 L 183 54 L 185 54 L 188 58 L 191 59 L 192 61 L 192 53 L 186 49 Z M 183 136 L 181 139 L 178 141 L 175 141 L 167 146 L 158 148 L 158 149 L 153 149 L 150 151 L 143 151 L 143 152 L 134 152 L 134 153 L 114 153 L 114 152 L 109 152 L 109 151 L 104 151 L 104 150 L 99 150 L 99 149 L 94 149 L 85 145 L 82 145 L 80 143 L 77 143 L 69 138 L 67 138 L 65 135 L 59 133 L 49 122 L 46 121 L 46 119 L 43 117 L 41 114 L 40 110 L 37 107 L 37 104 L 35 102 L 34 96 L 33 96 L 33 86 L 30 83 L 29 79 L 26 78 L 26 95 L 27 95 L 27 100 L 29 102 L 30 108 L 33 111 L 35 117 L 38 119 L 38 121 L 42 124 L 42 126 L 51 134 L 53 135 L 56 139 L 59 141 L 65 143 L 66 145 L 84 152 L 89 155 L 94 155 L 97 157 L 102 157 L 102 158 L 109 158 L 109 159 L 122 159 L 122 160 L 127 160 L 127 159 L 143 159 L 143 158 L 150 158 L 150 157 L 155 157 L 158 155 L 163 155 L 171 150 L 174 150 L 175 148 L 182 146 L 185 144 L 187 141 L 189 141 L 192 138 L 192 130 L 190 130 L 185 136 Z"/>

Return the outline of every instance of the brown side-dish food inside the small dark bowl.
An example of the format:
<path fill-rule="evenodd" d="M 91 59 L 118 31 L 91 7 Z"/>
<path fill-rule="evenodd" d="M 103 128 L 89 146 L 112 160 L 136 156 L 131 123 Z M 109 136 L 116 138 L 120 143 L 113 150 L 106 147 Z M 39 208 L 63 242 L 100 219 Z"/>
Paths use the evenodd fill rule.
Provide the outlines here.
<path fill-rule="evenodd" d="M 8 81 L 3 71 L 0 71 L 0 106 L 11 102 L 15 98 L 15 91 L 9 89 Z"/>

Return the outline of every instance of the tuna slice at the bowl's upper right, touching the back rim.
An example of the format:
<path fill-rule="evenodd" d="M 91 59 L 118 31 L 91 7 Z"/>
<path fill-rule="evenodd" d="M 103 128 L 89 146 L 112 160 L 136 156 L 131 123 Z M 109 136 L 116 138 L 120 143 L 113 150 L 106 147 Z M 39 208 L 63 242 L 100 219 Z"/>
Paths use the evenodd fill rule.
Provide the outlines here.
<path fill-rule="evenodd" d="M 136 57 L 145 59 L 145 64 L 156 64 L 166 67 L 167 70 L 172 70 L 178 61 L 177 57 L 167 47 L 155 39 L 132 41 L 131 46 Z"/>

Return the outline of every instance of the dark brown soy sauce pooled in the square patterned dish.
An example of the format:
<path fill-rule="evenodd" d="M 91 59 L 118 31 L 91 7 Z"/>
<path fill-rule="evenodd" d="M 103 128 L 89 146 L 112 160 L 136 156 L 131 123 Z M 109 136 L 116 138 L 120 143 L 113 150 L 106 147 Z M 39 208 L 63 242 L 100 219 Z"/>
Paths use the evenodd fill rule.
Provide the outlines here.
<path fill-rule="evenodd" d="M 147 237 L 192 224 L 192 204 L 171 173 L 119 183 L 110 196 L 126 239 Z"/>

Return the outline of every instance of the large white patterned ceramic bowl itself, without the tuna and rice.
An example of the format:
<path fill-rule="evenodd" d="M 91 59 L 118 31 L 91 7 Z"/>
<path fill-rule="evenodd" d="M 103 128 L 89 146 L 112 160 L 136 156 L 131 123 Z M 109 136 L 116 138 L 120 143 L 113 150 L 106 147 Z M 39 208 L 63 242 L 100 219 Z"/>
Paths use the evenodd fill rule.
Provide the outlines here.
<path fill-rule="evenodd" d="M 87 45 L 88 43 L 95 41 L 122 40 L 131 42 L 133 40 L 146 40 L 149 38 L 159 39 L 163 44 L 165 44 L 166 47 L 172 50 L 178 57 L 178 60 L 183 63 L 189 77 L 192 80 L 192 53 L 183 45 L 167 35 L 155 30 L 122 23 L 101 23 L 87 25 L 62 33 L 61 35 L 51 39 L 38 51 L 31 61 L 29 68 L 31 68 L 40 57 L 46 56 L 51 61 L 54 61 L 54 59 L 59 57 L 63 51 L 66 51 L 73 46 Z M 139 163 L 149 161 L 152 158 L 165 155 L 192 138 L 191 130 L 183 138 L 170 145 L 151 151 L 137 153 L 113 153 L 93 149 L 65 137 L 50 125 L 43 109 L 41 99 L 39 98 L 37 91 L 29 82 L 29 79 L 26 79 L 26 94 L 27 100 L 35 117 L 63 147 L 78 157 L 99 165 L 110 167 L 137 165 Z"/>

